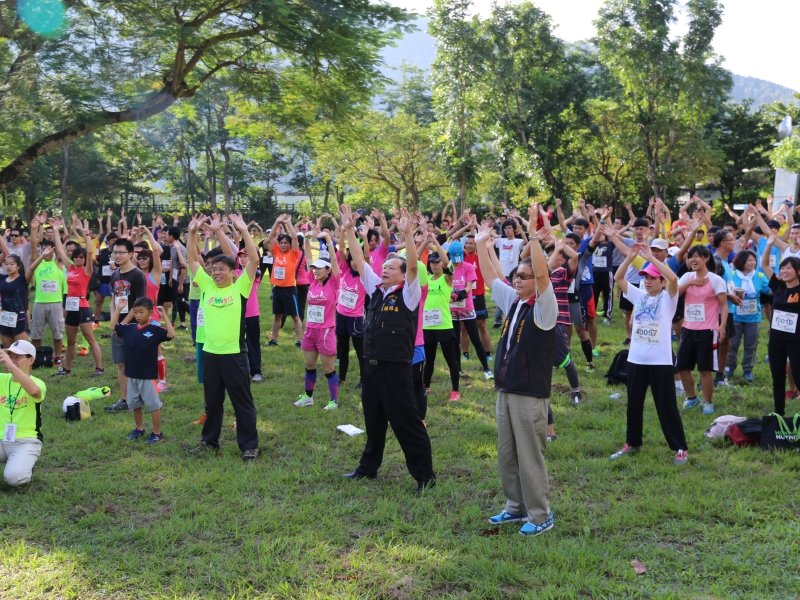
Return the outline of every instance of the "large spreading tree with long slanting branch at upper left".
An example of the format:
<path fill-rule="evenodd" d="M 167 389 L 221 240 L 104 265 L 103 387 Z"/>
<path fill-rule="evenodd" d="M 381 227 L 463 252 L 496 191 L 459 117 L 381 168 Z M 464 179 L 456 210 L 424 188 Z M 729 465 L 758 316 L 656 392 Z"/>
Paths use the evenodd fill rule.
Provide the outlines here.
<path fill-rule="evenodd" d="M 292 66 L 315 81 L 321 101 L 331 87 L 363 94 L 381 79 L 380 49 L 408 19 L 401 9 L 362 0 L 195 0 L 191 7 L 109 0 L 69 3 L 71 25 L 51 40 L 27 30 L 15 9 L 16 2 L 0 7 L 2 25 L 14 23 L 0 42 L 5 79 L 13 81 L 2 91 L 0 120 L 23 111 L 47 127 L 23 136 L 0 169 L 0 191 L 50 152 L 161 113 L 220 72 L 279 88 Z"/>

